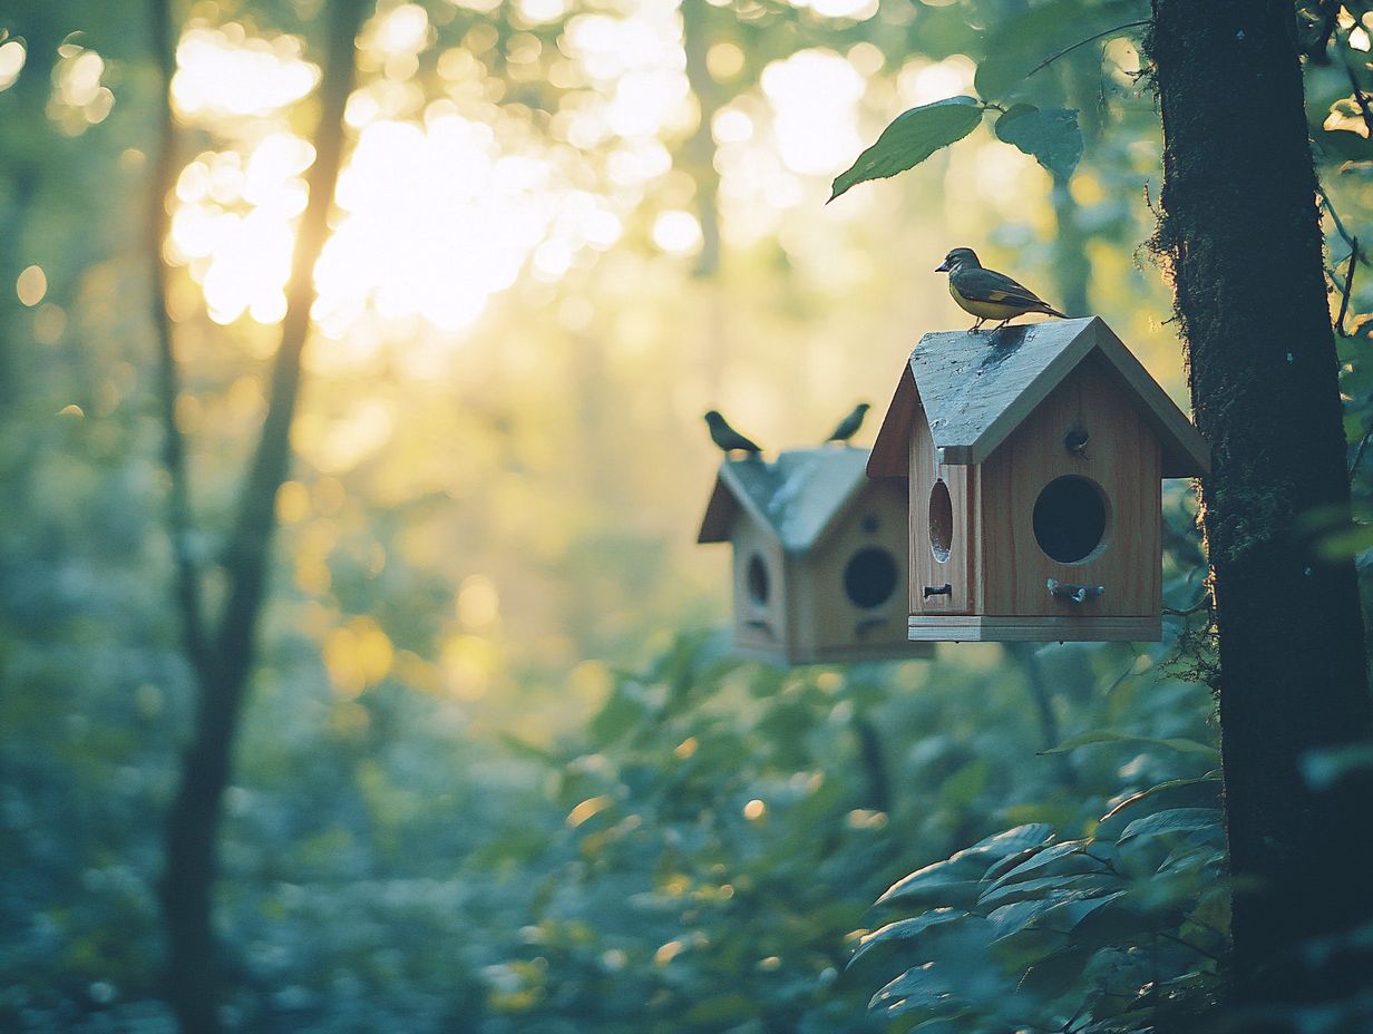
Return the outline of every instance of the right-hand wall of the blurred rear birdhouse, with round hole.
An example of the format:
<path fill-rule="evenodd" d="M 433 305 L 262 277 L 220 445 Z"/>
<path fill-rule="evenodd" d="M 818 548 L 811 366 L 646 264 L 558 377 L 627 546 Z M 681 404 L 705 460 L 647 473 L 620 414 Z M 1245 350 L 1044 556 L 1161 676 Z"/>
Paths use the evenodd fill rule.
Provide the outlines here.
<path fill-rule="evenodd" d="M 831 655 L 899 645 L 906 639 L 906 497 L 894 482 L 869 482 L 836 527 L 791 558 L 791 626 L 798 648 Z"/>

